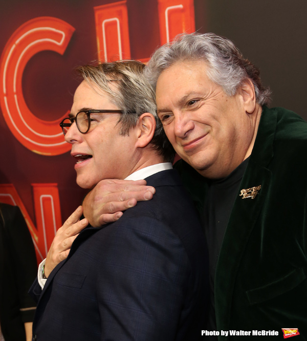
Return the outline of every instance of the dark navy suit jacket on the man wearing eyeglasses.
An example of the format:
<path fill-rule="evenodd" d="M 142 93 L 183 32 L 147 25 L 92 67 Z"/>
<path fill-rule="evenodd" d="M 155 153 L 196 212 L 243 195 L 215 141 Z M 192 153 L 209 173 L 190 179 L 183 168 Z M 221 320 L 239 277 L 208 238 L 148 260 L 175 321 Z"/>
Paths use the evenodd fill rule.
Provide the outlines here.
<path fill-rule="evenodd" d="M 119 221 L 86 228 L 41 291 L 37 340 L 194 341 L 205 329 L 207 251 L 177 171 L 148 177 L 156 187 Z"/>

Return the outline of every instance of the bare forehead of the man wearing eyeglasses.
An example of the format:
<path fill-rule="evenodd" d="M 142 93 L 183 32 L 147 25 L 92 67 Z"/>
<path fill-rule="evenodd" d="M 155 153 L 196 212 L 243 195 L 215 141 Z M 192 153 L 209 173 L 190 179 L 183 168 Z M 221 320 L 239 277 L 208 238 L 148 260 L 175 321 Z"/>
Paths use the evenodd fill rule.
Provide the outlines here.
<path fill-rule="evenodd" d="M 83 80 L 75 91 L 71 112 L 76 114 L 83 108 L 89 109 L 119 109 L 111 96 L 99 88 L 94 82 Z"/>

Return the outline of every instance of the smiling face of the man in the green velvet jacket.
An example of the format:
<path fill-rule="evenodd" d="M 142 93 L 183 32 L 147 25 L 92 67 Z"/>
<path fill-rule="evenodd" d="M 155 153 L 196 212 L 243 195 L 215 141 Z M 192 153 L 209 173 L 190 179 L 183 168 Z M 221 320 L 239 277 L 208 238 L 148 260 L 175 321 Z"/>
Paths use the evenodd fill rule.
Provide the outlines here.
<path fill-rule="evenodd" d="M 247 157 L 256 124 L 246 112 L 245 90 L 226 95 L 207 68 L 204 60 L 188 60 L 164 70 L 157 82 L 158 116 L 183 160 L 205 177 L 222 178 Z"/>

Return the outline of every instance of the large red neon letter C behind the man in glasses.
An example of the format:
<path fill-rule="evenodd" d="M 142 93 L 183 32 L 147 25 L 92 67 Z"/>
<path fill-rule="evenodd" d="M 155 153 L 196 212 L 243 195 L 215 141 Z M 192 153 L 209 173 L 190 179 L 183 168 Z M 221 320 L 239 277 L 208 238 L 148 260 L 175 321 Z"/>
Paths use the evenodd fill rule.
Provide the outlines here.
<path fill-rule="evenodd" d="M 59 155 L 70 150 L 59 129 L 59 122 L 43 121 L 31 113 L 22 89 L 22 77 L 29 59 L 52 50 L 63 54 L 74 32 L 63 20 L 38 17 L 21 25 L 10 37 L 0 66 L 0 104 L 3 116 L 15 138 L 37 154 Z"/>

